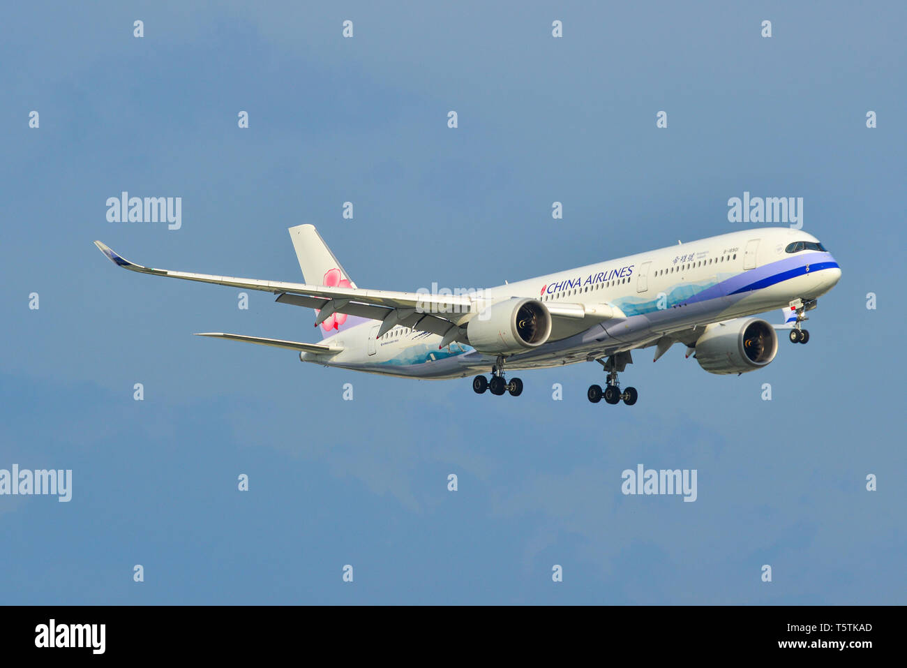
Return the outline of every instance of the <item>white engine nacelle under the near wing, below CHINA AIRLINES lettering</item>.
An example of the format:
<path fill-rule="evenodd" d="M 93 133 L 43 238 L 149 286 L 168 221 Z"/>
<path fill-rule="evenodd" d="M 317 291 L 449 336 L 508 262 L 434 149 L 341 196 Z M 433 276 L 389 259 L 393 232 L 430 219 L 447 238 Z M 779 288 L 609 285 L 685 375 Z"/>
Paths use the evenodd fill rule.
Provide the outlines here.
<path fill-rule="evenodd" d="M 551 313 L 539 300 L 499 301 L 479 311 L 466 325 L 469 345 L 479 352 L 522 352 L 541 346 L 551 336 Z"/>

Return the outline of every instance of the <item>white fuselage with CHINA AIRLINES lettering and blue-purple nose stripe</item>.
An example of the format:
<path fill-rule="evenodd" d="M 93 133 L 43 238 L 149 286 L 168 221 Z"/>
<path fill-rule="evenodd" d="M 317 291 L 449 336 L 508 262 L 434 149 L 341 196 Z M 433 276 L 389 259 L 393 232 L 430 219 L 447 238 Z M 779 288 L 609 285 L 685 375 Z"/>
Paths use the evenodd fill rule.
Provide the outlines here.
<path fill-rule="evenodd" d="M 497 286 L 481 297 L 486 304 L 532 298 L 551 309 L 579 304 L 619 314 L 575 331 L 554 329 L 548 343 L 507 358 L 509 369 L 560 366 L 816 299 L 841 270 L 826 251 L 785 251 L 794 241 L 817 242 L 786 228 L 736 231 Z M 375 339 L 377 331 L 375 321 L 346 329 L 325 340 L 342 352 L 327 361 L 307 353 L 301 359 L 406 378 L 460 378 L 489 370 L 496 359 L 455 342 L 439 349 L 441 337 L 424 331 L 395 327 Z"/>

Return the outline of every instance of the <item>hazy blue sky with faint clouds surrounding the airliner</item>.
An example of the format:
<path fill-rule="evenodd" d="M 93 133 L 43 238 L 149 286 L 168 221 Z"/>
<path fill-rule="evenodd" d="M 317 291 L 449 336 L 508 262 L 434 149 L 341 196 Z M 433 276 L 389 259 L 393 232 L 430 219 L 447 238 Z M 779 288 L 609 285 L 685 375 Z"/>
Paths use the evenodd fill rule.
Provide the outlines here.
<path fill-rule="evenodd" d="M 0 496 L 0 601 L 904 603 L 902 4 L 5 13 L 0 468 L 72 468 L 73 500 Z M 182 228 L 108 222 L 123 190 L 182 197 Z M 312 222 L 360 287 L 479 288 L 741 229 L 744 191 L 803 197 L 843 268 L 809 345 L 739 378 L 639 351 L 633 408 L 586 400 L 597 364 L 493 398 L 195 338 L 317 334 L 92 244 L 299 280 Z M 640 463 L 697 469 L 697 501 L 623 496 Z"/>

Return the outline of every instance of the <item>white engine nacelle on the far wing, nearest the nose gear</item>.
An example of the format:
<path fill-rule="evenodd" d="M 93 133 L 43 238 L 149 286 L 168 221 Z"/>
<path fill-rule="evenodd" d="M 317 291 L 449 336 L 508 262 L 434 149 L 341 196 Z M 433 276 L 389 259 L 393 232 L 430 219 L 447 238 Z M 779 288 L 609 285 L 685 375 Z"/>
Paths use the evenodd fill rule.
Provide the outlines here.
<path fill-rule="evenodd" d="M 758 318 L 713 322 L 696 342 L 696 360 L 709 373 L 746 373 L 775 359 L 775 328 Z"/>

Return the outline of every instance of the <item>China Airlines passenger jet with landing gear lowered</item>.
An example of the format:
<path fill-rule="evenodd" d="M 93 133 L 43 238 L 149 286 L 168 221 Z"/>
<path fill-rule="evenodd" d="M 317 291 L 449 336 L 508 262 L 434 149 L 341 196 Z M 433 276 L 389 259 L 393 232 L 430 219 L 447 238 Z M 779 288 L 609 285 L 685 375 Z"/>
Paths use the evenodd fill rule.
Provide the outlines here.
<path fill-rule="evenodd" d="M 315 309 L 320 343 L 224 332 L 197 336 L 297 350 L 325 367 L 402 378 L 465 378 L 473 390 L 522 393 L 509 370 L 551 368 L 595 360 L 605 387 L 590 386 L 599 403 L 636 403 L 636 388 L 621 389 L 619 373 L 632 351 L 655 348 L 657 361 L 675 343 L 713 374 L 763 368 L 775 359 L 778 336 L 789 330 L 804 344 L 806 312 L 841 278 L 822 243 L 804 231 L 735 231 L 558 271 L 484 290 L 395 292 L 356 287 L 314 225 L 289 228 L 305 283 L 151 269 L 94 244 L 120 267 L 276 294 L 281 304 Z M 758 313 L 782 309 L 784 322 Z M 490 378 L 484 374 L 490 373 Z"/>

